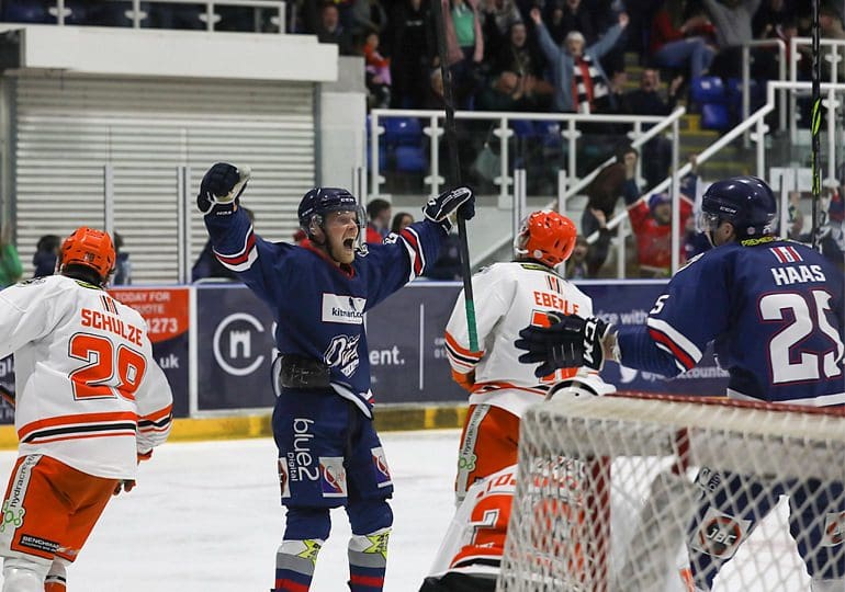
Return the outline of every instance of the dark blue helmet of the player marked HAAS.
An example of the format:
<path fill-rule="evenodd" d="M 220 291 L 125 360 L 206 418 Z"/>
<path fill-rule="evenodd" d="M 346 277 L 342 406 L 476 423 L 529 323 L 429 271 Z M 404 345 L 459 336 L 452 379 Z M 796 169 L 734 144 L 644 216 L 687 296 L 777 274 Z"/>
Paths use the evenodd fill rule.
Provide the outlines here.
<path fill-rule="evenodd" d="M 698 229 L 716 230 L 729 221 L 740 238 L 770 235 L 774 231 L 777 200 L 765 181 L 757 177 L 733 177 L 717 181 L 701 200 Z"/>

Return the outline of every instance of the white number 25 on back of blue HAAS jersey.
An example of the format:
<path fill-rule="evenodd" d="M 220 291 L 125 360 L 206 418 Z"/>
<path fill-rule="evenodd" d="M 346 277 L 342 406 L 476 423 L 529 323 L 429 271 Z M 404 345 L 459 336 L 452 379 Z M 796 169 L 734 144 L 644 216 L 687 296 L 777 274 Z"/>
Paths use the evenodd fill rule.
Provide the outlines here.
<path fill-rule="evenodd" d="M 808 301 L 798 293 L 767 294 L 759 299 L 759 314 L 764 320 L 788 321 L 791 317 L 791 322 L 769 341 L 768 354 L 774 385 L 818 380 L 821 373 L 825 378 L 835 378 L 842 374 L 841 363 L 845 346 L 826 316 L 826 311 L 831 310 L 831 295 L 823 289 L 814 289 L 811 295 L 812 301 Z M 790 356 L 792 349 L 819 331 L 831 339 L 833 350 L 824 353 L 803 351 L 797 362 L 791 362 L 790 360 L 795 358 Z"/>

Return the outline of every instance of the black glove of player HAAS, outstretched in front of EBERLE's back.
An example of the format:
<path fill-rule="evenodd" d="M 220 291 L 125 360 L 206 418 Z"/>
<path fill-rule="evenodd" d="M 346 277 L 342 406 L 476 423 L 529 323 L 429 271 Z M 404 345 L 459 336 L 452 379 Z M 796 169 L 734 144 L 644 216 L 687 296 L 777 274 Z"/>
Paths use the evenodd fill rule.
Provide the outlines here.
<path fill-rule="evenodd" d="M 547 376 L 557 368 L 586 366 L 599 371 L 604 362 L 601 340 L 612 327 L 595 317 L 582 319 L 573 315 L 563 317 L 551 327 L 530 325 L 519 331 L 522 339 L 514 344 L 528 352 L 519 356 L 520 362 L 541 362 L 534 369 L 537 377 Z"/>

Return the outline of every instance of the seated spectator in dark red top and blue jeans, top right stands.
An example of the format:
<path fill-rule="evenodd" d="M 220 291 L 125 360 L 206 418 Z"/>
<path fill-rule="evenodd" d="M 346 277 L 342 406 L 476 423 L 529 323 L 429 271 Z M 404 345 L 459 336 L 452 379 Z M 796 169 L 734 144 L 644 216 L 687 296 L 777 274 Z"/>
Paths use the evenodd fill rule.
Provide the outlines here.
<path fill-rule="evenodd" d="M 683 69 L 700 78 L 710 68 L 716 49 L 710 44 L 713 25 L 700 13 L 687 18 L 686 0 L 665 0 L 654 14 L 651 55 L 661 68 Z"/>

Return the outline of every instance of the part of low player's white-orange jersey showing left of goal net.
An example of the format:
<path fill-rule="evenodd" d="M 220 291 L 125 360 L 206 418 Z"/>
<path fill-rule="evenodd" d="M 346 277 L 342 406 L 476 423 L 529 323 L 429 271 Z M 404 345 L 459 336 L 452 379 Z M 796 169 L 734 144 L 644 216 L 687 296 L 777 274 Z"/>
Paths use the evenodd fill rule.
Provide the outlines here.
<path fill-rule="evenodd" d="M 498 573 L 516 483 L 517 465 L 510 465 L 470 487 L 440 544 L 432 576 Z"/>

